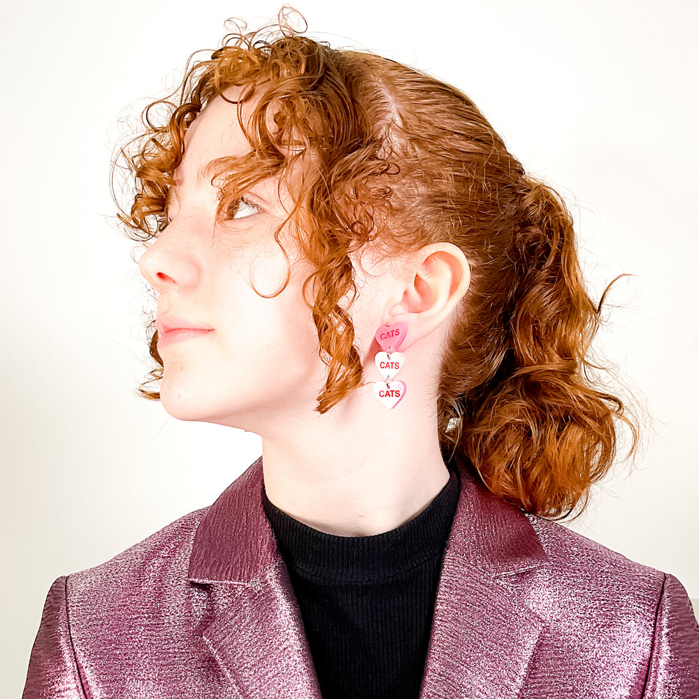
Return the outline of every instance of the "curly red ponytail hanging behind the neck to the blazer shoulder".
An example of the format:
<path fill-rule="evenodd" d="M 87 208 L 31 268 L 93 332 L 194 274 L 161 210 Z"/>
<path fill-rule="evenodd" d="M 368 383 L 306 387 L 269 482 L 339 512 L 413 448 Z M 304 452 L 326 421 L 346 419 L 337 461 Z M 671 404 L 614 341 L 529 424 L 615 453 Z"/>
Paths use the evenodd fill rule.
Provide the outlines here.
<path fill-rule="evenodd" d="M 637 431 L 621 400 L 586 377 L 610 287 L 595 305 L 565 204 L 542 182 L 521 181 L 510 254 L 515 281 L 493 333 L 499 363 L 488 380 L 452 402 L 459 415 L 445 430 L 445 446 L 491 492 L 526 512 L 560 519 L 576 507 L 582 512 L 591 484 L 611 468 L 615 422 L 630 428 L 631 452 Z"/>

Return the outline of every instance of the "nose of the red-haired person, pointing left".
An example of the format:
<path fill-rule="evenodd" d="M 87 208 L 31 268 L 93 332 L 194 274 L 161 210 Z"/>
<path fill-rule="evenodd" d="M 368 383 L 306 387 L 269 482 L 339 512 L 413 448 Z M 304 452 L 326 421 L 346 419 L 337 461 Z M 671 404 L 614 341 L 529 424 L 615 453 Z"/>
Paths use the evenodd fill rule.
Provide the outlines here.
<path fill-rule="evenodd" d="M 201 264 L 174 226 L 162 231 L 141 255 L 140 273 L 159 293 L 195 287 L 201 278 Z"/>

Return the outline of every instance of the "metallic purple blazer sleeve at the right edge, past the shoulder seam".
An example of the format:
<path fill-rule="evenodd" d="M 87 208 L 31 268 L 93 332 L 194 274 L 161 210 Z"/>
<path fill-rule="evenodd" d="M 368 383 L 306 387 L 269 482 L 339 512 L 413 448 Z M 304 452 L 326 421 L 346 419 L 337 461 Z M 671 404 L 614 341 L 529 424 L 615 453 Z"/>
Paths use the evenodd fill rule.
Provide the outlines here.
<path fill-rule="evenodd" d="M 682 583 L 665 575 L 644 699 L 699 699 L 699 626 Z"/>

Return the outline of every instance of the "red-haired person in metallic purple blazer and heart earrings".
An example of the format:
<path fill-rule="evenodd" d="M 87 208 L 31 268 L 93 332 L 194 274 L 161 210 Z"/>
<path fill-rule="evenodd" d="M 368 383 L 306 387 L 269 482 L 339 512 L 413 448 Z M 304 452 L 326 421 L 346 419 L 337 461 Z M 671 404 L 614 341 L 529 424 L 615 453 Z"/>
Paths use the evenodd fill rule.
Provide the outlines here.
<path fill-rule="evenodd" d="M 635 425 L 565 203 L 473 101 L 282 22 L 144 124 L 141 391 L 262 455 L 57 579 L 24 697 L 699 696 L 682 584 L 555 521 Z"/>

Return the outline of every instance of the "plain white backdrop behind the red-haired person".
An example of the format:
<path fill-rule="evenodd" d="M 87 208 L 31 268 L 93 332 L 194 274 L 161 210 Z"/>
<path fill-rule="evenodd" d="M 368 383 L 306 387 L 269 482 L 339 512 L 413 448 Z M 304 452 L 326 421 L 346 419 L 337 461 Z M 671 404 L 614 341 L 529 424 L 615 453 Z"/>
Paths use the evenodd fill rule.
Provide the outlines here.
<path fill-rule="evenodd" d="M 590 290 L 621 272 L 598 349 L 650 419 L 573 525 L 699 598 L 699 3 L 298 0 L 313 36 L 438 75 L 568 198 Z M 255 435 L 136 397 L 147 294 L 115 227 L 125 121 L 268 1 L 3 3 L 0 693 L 19 696 L 51 582 L 210 504 Z"/>

